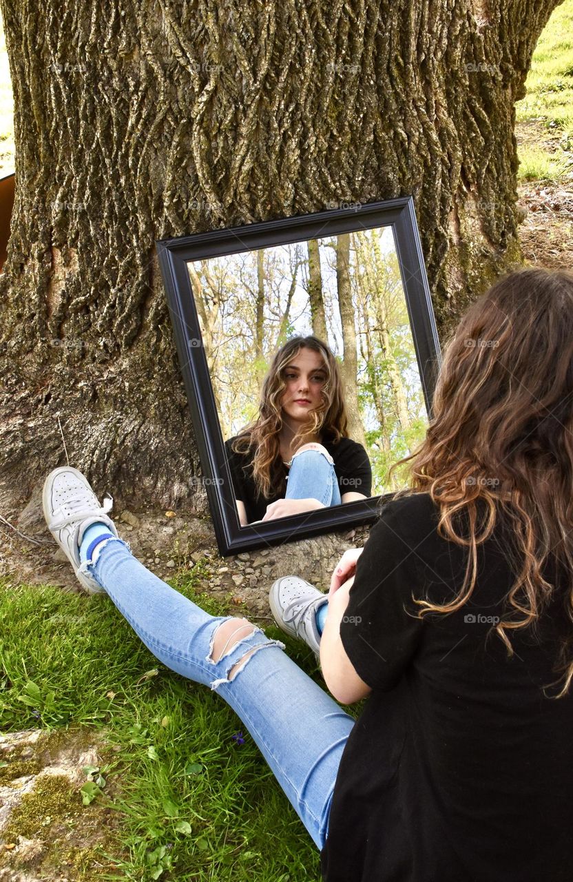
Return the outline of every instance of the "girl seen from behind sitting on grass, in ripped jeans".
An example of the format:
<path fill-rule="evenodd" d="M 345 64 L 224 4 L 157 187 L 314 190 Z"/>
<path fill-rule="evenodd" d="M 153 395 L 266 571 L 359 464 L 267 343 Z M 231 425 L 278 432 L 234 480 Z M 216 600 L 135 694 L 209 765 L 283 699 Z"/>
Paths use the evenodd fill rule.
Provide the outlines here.
<path fill-rule="evenodd" d="M 512 273 L 474 303 L 434 413 L 411 486 L 328 597 L 272 587 L 303 638 L 326 606 L 324 680 L 342 704 L 368 696 L 355 723 L 276 641 L 145 570 L 75 469 L 48 476 L 48 526 L 161 662 L 239 714 L 326 882 L 569 882 L 573 275 Z"/>

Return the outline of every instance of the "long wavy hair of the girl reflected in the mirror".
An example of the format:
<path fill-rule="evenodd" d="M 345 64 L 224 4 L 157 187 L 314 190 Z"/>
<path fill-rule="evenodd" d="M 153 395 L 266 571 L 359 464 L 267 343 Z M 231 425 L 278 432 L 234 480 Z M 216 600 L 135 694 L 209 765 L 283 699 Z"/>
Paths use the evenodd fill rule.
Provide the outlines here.
<path fill-rule="evenodd" d="M 291 337 L 277 350 L 264 377 L 257 418 L 239 432 L 232 445 L 237 453 L 246 453 L 250 448 L 255 448 L 253 478 L 259 496 L 270 497 L 271 489 L 279 496 L 284 496 L 287 491 L 287 477 L 280 456 L 279 432 L 283 425 L 280 400 L 287 387 L 287 367 L 301 348 L 313 349 L 322 356 L 326 380 L 321 389 L 322 400 L 319 407 L 309 410 L 309 419 L 294 435 L 291 445 L 293 453 L 309 434 L 321 432 L 334 443 L 348 435 L 342 377 L 331 349 L 314 334 Z"/>

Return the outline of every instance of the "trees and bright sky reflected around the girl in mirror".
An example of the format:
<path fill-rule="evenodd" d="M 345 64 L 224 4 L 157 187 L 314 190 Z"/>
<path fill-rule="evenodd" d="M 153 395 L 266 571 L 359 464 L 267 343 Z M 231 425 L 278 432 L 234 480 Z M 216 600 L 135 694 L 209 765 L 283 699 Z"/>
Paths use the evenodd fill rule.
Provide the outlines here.
<path fill-rule="evenodd" d="M 347 434 L 371 467 L 369 495 L 404 486 L 404 468 L 391 480 L 388 470 L 420 444 L 428 412 L 391 226 L 187 266 L 224 441 L 257 420 L 277 350 L 313 334 L 339 365 Z M 339 490 L 338 505 L 353 501 Z"/>

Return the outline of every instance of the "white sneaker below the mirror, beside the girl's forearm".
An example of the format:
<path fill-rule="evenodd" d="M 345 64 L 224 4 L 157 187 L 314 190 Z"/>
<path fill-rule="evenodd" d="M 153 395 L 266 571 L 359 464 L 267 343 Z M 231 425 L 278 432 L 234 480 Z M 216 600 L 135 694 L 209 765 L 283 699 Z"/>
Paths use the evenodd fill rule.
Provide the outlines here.
<path fill-rule="evenodd" d="M 316 610 L 327 603 L 326 594 L 298 576 L 283 576 L 273 583 L 269 592 L 272 617 L 279 628 L 304 640 L 320 654 L 320 633 L 316 627 Z"/>

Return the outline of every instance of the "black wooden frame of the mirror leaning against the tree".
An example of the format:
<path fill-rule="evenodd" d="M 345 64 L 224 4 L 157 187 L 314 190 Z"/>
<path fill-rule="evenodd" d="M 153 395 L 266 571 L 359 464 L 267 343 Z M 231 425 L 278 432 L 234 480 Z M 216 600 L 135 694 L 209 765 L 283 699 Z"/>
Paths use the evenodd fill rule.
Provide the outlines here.
<path fill-rule="evenodd" d="M 203 470 L 202 480 L 222 556 L 366 524 L 376 520 L 381 497 L 241 527 L 190 283 L 189 261 L 388 226 L 393 228 L 420 383 L 431 418 L 441 354 L 412 197 L 216 229 L 156 243 Z M 385 495 L 392 496 L 392 493 Z"/>

